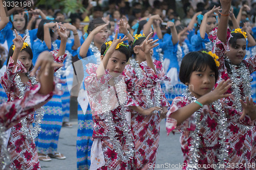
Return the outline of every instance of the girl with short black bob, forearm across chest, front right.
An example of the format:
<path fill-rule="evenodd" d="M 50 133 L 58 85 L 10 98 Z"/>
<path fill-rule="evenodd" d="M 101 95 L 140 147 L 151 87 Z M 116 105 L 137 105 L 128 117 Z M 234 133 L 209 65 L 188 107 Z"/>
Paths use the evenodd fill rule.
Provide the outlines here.
<path fill-rule="evenodd" d="M 243 114 L 229 109 L 219 101 L 231 95 L 224 94 L 231 86 L 228 85 L 230 80 L 221 81 L 211 91 L 218 79 L 217 65 L 218 61 L 206 52 L 188 53 L 181 63 L 180 80 L 188 88 L 184 96 L 174 99 L 166 115 L 166 130 L 167 134 L 174 129 L 181 132 L 180 142 L 185 163 L 183 169 L 226 167 L 228 125 L 230 122 L 246 124 L 250 120 L 249 116 L 255 118 L 255 110 L 252 111 L 255 106 L 248 101 L 246 104 L 242 102 L 245 108 Z"/>

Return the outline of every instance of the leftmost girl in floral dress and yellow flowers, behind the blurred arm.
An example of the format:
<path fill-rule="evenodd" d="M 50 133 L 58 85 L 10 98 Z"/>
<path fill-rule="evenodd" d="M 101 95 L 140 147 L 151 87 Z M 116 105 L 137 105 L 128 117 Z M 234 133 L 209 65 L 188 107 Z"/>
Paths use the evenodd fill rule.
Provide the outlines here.
<path fill-rule="evenodd" d="M 61 39 L 65 39 L 65 29 L 60 27 L 58 33 Z M 7 93 L 8 102 L 22 98 L 25 89 L 37 83 L 35 78 L 28 74 L 28 71 L 33 67 L 33 54 L 30 46 L 24 43 L 25 39 L 26 36 L 22 38 L 16 33 L 16 38 L 13 40 L 14 45 L 10 48 L 8 55 L 7 70 L 1 78 L 1 84 Z M 62 63 L 65 60 L 65 48 L 66 43 L 62 43 L 59 53 L 57 51 L 51 52 L 55 62 Z M 54 70 L 56 71 L 58 68 L 55 67 Z M 35 120 L 35 123 L 40 123 L 40 116 L 42 115 L 38 114 L 38 121 Z M 7 144 L 12 159 L 10 169 L 41 169 L 34 142 L 37 130 L 34 132 L 30 130 L 30 124 L 33 122 L 34 112 L 31 111 L 22 122 L 11 127 Z"/>

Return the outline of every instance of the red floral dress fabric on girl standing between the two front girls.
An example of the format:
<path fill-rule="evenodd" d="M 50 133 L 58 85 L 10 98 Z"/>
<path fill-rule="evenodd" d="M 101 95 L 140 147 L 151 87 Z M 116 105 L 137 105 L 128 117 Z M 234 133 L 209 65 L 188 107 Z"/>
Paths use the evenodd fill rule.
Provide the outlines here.
<path fill-rule="evenodd" d="M 142 62 L 141 65 L 143 68 L 146 62 Z M 160 61 L 154 60 L 154 65 L 157 71 L 157 75 L 165 77 L 162 63 Z M 143 77 L 146 76 L 146 73 L 142 71 Z M 124 79 L 138 79 L 136 72 L 131 65 L 126 65 L 123 71 Z M 166 80 L 169 80 L 166 78 Z M 147 88 L 151 92 L 151 100 L 153 103 L 156 103 L 154 98 L 154 91 L 160 89 L 161 93 L 161 107 L 169 107 L 169 103 L 165 98 L 164 93 L 162 92 L 160 82 L 157 83 L 155 87 Z M 142 89 L 129 91 L 128 92 L 128 103 L 127 106 L 140 106 L 143 109 L 147 109 L 147 100 L 145 94 L 143 94 Z M 160 115 L 142 115 L 134 110 L 131 112 L 131 129 L 135 140 L 135 159 L 137 162 L 137 169 L 148 169 L 148 164 L 156 163 L 157 150 L 159 145 L 160 138 Z"/>

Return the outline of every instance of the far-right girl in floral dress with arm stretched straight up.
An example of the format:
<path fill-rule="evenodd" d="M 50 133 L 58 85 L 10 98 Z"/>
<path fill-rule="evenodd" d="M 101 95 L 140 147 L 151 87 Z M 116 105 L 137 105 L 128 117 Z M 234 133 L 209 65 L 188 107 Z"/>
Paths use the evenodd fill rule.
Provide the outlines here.
<path fill-rule="evenodd" d="M 223 98 L 222 102 L 228 107 L 237 111 L 244 111 L 243 102 L 250 103 L 251 111 L 248 115 L 240 117 L 239 113 L 230 113 L 230 116 L 236 115 L 228 124 L 227 138 L 229 139 L 229 163 L 237 163 L 237 160 L 249 164 L 254 162 L 256 153 L 253 144 L 255 133 L 255 106 L 251 98 L 251 74 L 256 70 L 256 56 L 244 59 L 246 54 L 246 36 L 241 29 L 230 31 L 228 26 L 228 15 L 231 6 L 231 0 L 221 0 L 222 15 L 218 29 L 211 32 L 210 39 L 214 42 L 213 53 L 219 57 L 219 78 L 215 86 L 223 80 L 231 80 L 231 86 L 227 93 L 231 95 Z M 255 55 L 255 54 L 254 54 Z M 242 122 L 240 122 L 240 119 Z M 235 130 L 236 129 L 236 130 Z M 235 131 L 236 132 L 235 132 Z M 246 151 L 246 157 L 244 157 Z"/>

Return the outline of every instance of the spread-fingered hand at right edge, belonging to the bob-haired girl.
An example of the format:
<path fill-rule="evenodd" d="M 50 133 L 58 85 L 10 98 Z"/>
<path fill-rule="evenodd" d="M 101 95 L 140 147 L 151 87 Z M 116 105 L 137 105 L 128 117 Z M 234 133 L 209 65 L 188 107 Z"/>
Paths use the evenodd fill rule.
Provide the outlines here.
<path fill-rule="evenodd" d="M 254 120 L 256 118 L 256 105 L 254 105 L 252 98 L 250 98 L 249 101 L 249 97 L 247 96 L 246 103 L 244 103 L 243 100 L 240 100 L 240 102 L 243 106 L 243 113 L 240 117 L 240 120 L 242 120 L 246 114 L 250 116 L 251 120 Z"/>

